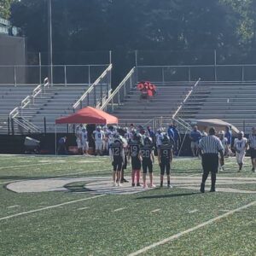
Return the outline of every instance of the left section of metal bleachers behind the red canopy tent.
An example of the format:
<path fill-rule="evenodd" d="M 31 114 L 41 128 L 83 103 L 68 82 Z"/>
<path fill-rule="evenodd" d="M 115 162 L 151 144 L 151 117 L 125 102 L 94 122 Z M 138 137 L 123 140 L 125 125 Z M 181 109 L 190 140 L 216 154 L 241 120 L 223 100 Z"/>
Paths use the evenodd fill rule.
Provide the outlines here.
<path fill-rule="evenodd" d="M 96 107 L 102 98 L 108 96 L 111 69 L 112 65 L 109 65 L 93 84 L 50 85 L 47 82 L 39 84 L 36 88 L 33 86 L 24 93 L 20 93 L 20 89 L 17 89 L 17 94 L 20 93 L 20 96 L 15 97 L 12 92 L 14 102 L 1 102 L 2 106 L 9 108 L 3 113 L 5 121 L 0 127 L 0 133 L 55 132 L 55 119 L 74 113 L 79 108 Z M 67 125 L 60 125 L 58 132 L 67 132 Z"/>

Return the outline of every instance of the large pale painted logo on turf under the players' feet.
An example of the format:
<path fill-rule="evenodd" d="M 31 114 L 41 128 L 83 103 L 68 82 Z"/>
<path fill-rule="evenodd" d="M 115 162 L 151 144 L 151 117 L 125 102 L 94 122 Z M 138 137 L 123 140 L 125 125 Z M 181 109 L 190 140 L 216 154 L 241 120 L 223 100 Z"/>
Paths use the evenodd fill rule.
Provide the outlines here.
<path fill-rule="evenodd" d="M 159 180 L 155 177 L 154 180 Z M 172 185 L 181 189 L 199 190 L 201 177 L 174 176 Z M 210 180 L 207 181 L 208 188 Z M 77 192 L 91 192 L 93 194 L 119 194 L 131 195 L 145 191 L 142 187 L 131 187 L 131 183 L 124 183 L 123 187 L 112 187 L 110 177 L 51 177 L 44 179 L 32 179 L 9 183 L 7 189 L 17 193 L 35 193 L 49 191 L 73 191 L 68 189 L 68 184 L 84 183 L 84 189 Z M 218 177 L 218 191 L 227 193 L 256 193 L 255 190 L 246 189 L 247 185 L 256 184 L 255 177 Z M 159 185 L 156 183 L 156 185 Z M 236 188 L 237 187 L 237 188 Z M 245 189 L 240 189 L 240 187 Z M 206 189 L 208 189 L 206 188 Z"/>

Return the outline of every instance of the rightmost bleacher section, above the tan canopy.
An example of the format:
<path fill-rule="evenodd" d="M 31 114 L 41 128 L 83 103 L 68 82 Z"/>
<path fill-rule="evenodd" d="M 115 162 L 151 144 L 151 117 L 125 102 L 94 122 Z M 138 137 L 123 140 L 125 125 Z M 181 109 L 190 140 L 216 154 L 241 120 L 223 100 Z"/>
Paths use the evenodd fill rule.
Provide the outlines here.
<path fill-rule="evenodd" d="M 223 119 L 249 133 L 256 126 L 255 99 L 256 83 L 201 82 L 178 116 L 186 121 Z"/>

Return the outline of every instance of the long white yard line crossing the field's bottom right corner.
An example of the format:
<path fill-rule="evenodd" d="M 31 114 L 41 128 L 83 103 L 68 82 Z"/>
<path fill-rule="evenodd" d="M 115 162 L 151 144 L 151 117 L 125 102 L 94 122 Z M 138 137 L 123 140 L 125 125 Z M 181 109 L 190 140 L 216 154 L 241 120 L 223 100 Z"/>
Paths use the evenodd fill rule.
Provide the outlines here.
<path fill-rule="evenodd" d="M 242 209 L 246 209 L 247 207 L 252 207 L 252 206 L 255 205 L 255 204 L 256 204 L 256 201 L 253 201 L 253 202 L 247 204 L 246 206 L 239 207 L 239 208 L 236 208 L 236 209 L 231 210 L 231 211 L 229 211 L 229 212 L 226 212 L 226 213 L 224 213 L 223 215 L 220 215 L 220 216 L 218 216 L 218 217 L 216 217 L 216 218 L 209 219 L 209 220 L 207 220 L 206 222 L 204 222 L 204 223 L 202 223 L 202 224 L 199 224 L 199 225 L 197 225 L 197 226 L 195 226 L 195 227 L 193 227 L 193 228 L 190 228 L 189 230 L 184 230 L 184 231 L 182 231 L 182 232 L 180 232 L 180 233 L 177 233 L 176 235 L 170 236 L 170 237 L 168 237 L 168 238 L 166 238 L 166 239 L 164 239 L 164 240 L 155 242 L 155 243 L 153 243 L 152 245 L 150 245 L 150 246 L 148 246 L 148 247 L 143 247 L 142 249 L 138 250 L 137 252 L 130 253 L 128 256 L 136 256 L 136 255 L 139 255 L 139 254 L 141 254 L 141 253 L 145 253 L 145 252 L 147 252 L 148 250 L 153 249 L 154 247 L 158 247 L 158 246 L 160 246 L 160 245 L 165 244 L 166 242 L 175 240 L 175 239 L 179 238 L 180 236 L 183 236 L 183 235 L 186 235 L 186 234 L 188 234 L 188 233 L 190 233 L 190 232 L 192 232 L 192 231 L 201 229 L 202 227 L 204 227 L 204 226 L 206 226 L 206 225 L 208 225 L 208 224 L 212 224 L 213 222 L 217 221 L 218 219 L 225 218 L 225 217 L 227 217 L 227 216 L 229 216 L 229 215 L 231 215 L 231 214 L 233 214 L 233 213 L 235 213 L 235 212 L 241 211 Z"/>

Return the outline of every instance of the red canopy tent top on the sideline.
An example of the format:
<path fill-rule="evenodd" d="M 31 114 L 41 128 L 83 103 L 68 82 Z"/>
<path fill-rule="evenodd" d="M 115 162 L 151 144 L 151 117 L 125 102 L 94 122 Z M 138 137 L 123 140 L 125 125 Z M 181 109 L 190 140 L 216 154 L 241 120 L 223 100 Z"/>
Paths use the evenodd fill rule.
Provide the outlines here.
<path fill-rule="evenodd" d="M 55 124 L 118 124 L 119 119 L 101 109 L 86 107 L 66 117 L 55 119 Z"/>

